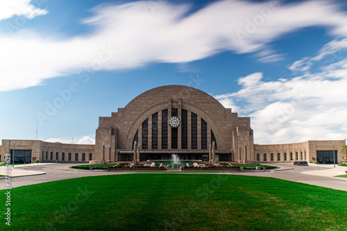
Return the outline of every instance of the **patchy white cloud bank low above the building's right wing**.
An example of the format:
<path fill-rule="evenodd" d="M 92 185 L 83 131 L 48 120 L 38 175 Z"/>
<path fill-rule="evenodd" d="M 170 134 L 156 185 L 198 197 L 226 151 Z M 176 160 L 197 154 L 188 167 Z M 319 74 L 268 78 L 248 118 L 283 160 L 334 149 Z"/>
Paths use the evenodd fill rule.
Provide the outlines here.
<path fill-rule="evenodd" d="M 239 79 L 238 92 L 215 96 L 236 102 L 251 117 L 255 142 L 279 144 L 347 137 L 347 59 L 317 74 L 264 82 L 262 73 Z M 229 106 L 229 105 L 228 105 Z"/>

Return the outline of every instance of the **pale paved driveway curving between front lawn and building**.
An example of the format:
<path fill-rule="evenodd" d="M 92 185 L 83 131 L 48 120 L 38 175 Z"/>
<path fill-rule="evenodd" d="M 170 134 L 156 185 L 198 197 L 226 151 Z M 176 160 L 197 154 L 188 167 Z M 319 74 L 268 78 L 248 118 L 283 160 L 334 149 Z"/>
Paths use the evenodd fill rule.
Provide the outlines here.
<path fill-rule="evenodd" d="M 64 180 L 71 178 L 81 178 L 86 176 L 105 176 L 105 175 L 119 175 L 119 174 L 141 174 L 135 172 L 99 172 L 99 171 L 67 171 L 56 168 L 64 168 L 67 166 L 72 166 L 73 164 L 49 164 L 40 166 L 39 171 L 45 171 L 46 174 L 39 176 L 24 176 L 19 178 L 11 179 L 12 187 L 20 187 L 23 185 L 35 185 L 42 182 L 49 182 L 55 180 Z M 76 164 L 77 165 L 77 164 Z M 316 166 L 293 166 L 292 164 L 274 164 L 276 166 L 285 168 L 292 168 L 291 170 L 284 171 L 266 171 L 266 172 L 244 172 L 244 173 L 225 173 L 222 174 L 236 174 L 236 175 L 246 175 L 246 176 L 264 176 L 270 178 L 278 178 L 282 180 L 290 180 L 295 182 L 302 182 L 309 185 L 318 185 L 321 187 L 328 187 L 331 189 L 339 189 L 347 191 L 347 178 L 332 178 L 323 176 L 310 176 L 303 175 L 303 171 L 322 171 L 323 169 Z M 30 168 L 28 169 L 30 170 Z M 33 167 L 34 171 L 37 167 Z M 181 172 L 182 173 L 182 172 Z M 153 174 L 172 174 L 172 173 L 158 173 L 153 172 Z M 178 173 L 180 174 L 180 173 Z M 191 174 L 191 173 L 183 173 Z M 205 173 L 205 174 L 218 174 L 218 173 Z M 0 189 L 6 189 L 5 179 L 0 180 Z"/>

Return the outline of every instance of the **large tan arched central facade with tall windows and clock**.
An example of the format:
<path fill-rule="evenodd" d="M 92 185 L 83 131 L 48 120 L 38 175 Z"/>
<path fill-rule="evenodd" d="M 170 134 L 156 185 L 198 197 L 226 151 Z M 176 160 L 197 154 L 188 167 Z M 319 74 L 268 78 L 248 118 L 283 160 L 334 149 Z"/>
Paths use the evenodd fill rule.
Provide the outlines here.
<path fill-rule="evenodd" d="M 144 92 L 111 117 L 100 117 L 96 130 L 96 157 L 105 162 L 168 160 L 171 154 L 210 161 L 212 151 L 217 161 L 254 160 L 250 119 L 192 87 Z"/>

